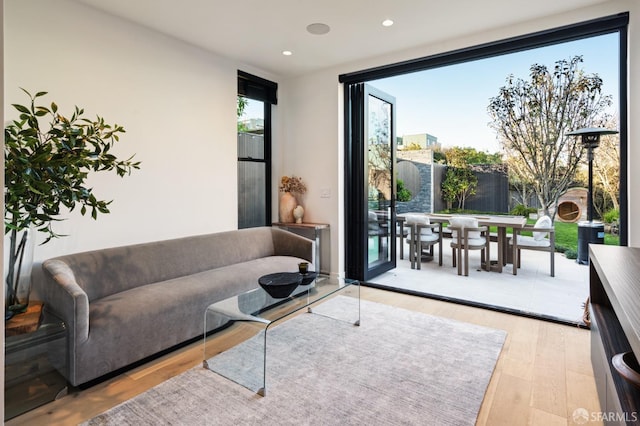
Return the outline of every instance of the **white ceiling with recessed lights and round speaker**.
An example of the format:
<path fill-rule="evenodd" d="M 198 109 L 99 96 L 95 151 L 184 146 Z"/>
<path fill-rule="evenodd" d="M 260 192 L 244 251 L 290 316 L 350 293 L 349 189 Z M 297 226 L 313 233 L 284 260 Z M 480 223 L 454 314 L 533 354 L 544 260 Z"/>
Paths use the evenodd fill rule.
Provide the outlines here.
<path fill-rule="evenodd" d="M 295 76 L 612 0 L 75 1 L 275 75 Z M 383 27 L 384 19 L 394 25 Z M 312 23 L 331 31 L 310 34 Z M 293 54 L 284 56 L 284 50 Z"/>

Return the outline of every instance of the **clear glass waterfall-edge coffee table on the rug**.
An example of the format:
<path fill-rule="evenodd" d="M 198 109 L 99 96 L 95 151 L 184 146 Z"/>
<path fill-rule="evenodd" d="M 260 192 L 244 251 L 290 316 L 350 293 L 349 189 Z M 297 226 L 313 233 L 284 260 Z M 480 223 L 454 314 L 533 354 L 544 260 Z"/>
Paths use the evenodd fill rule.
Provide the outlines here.
<path fill-rule="evenodd" d="M 322 274 L 307 285 L 299 285 L 290 296 L 282 299 L 275 299 L 262 288 L 256 288 L 209 305 L 204 315 L 203 367 L 265 396 L 269 328 L 305 308 L 308 313 L 319 315 L 313 311 L 313 305 L 337 293 L 357 298 L 358 312 L 353 314 L 355 319 L 336 319 L 359 326 L 360 282 Z M 251 326 L 255 328 L 252 333 L 262 336 L 256 335 L 251 339 L 245 356 L 224 360 L 226 351 L 220 353 L 212 343 L 214 336 L 210 335 L 210 331 L 229 322 L 232 326 Z"/>

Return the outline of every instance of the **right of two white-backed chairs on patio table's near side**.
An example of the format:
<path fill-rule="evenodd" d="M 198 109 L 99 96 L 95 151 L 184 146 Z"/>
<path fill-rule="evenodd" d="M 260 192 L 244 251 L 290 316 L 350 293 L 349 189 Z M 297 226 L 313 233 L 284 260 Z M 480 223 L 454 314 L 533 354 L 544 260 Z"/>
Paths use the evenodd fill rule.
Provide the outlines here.
<path fill-rule="evenodd" d="M 487 270 L 491 267 L 489 257 L 489 228 L 478 226 L 478 220 L 473 217 L 454 216 L 449 220 L 451 230 L 451 249 L 453 266 L 458 266 L 458 275 L 469 275 L 469 250 L 480 250 L 480 264 L 485 264 Z M 464 256 L 462 256 L 464 253 Z"/>

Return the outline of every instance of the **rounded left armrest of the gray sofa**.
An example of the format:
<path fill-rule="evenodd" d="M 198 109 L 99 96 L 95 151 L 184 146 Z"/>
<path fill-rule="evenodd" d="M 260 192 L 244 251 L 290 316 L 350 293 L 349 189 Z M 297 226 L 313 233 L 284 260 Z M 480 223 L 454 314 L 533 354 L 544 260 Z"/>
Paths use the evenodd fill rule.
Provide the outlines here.
<path fill-rule="evenodd" d="M 42 263 L 45 307 L 62 319 L 69 330 L 70 346 L 89 338 L 89 298 L 78 285 L 69 265 L 50 259 Z"/>

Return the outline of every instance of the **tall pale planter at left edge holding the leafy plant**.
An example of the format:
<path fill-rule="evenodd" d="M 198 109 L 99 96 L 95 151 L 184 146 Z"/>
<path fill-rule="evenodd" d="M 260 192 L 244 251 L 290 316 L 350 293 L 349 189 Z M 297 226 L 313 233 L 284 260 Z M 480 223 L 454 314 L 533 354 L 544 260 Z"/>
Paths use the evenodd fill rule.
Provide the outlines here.
<path fill-rule="evenodd" d="M 34 229 L 10 232 L 5 238 L 5 318 L 22 313 L 29 306 L 31 269 L 35 249 Z"/>

